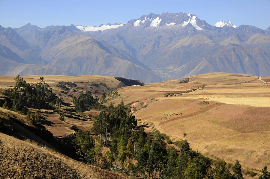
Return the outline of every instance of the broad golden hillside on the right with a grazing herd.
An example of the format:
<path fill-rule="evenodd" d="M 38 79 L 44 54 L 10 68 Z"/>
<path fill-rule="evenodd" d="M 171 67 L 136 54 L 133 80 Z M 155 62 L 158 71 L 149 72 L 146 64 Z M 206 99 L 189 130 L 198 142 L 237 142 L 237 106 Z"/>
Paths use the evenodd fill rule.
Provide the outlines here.
<path fill-rule="evenodd" d="M 187 83 L 188 79 L 188 83 Z M 194 75 L 118 89 L 139 124 L 152 124 L 175 142 L 187 139 L 211 158 L 270 167 L 269 77 L 230 73 Z M 184 135 L 185 134 L 185 135 Z"/>

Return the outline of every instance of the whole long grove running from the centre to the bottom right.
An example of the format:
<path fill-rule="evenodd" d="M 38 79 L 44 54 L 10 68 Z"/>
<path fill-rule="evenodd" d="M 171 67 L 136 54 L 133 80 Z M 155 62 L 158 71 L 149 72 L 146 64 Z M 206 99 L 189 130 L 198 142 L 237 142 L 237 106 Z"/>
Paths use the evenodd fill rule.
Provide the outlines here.
<path fill-rule="evenodd" d="M 232 174 L 224 161 L 218 161 L 216 167 L 211 168 L 212 161 L 198 151 L 192 151 L 186 140 L 179 155 L 173 147 L 166 149 L 164 136 L 160 133 L 155 133 L 152 139 L 147 138 L 143 129 L 137 128 L 137 121 L 123 102 L 116 107 L 110 104 L 107 110 L 101 111 L 92 131 L 104 145 L 111 146 L 104 159 L 108 169 L 128 169 L 130 175 L 141 175 L 141 178 L 243 178 L 238 160 L 232 167 Z M 95 155 L 92 152 L 92 156 Z M 135 165 L 131 163 L 132 159 L 137 160 Z"/>

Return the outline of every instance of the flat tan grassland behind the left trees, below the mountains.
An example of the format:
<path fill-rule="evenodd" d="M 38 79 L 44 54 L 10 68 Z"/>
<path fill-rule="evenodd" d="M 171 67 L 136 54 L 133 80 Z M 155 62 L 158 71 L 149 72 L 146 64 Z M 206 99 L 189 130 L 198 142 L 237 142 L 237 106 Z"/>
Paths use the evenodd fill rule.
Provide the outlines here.
<path fill-rule="evenodd" d="M 103 91 L 110 92 L 112 89 L 125 86 L 113 76 L 101 75 L 32 75 L 23 78 L 30 84 L 36 84 L 40 76 L 44 77 L 44 81 L 49 84 L 53 93 L 67 103 L 70 103 L 74 95 L 79 95 L 80 91 L 91 91 L 94 97 L 100 97 Z M 14 76 L 0 76 L 0 92 L 9 87 L 13 88 L 14 78 Z"/>

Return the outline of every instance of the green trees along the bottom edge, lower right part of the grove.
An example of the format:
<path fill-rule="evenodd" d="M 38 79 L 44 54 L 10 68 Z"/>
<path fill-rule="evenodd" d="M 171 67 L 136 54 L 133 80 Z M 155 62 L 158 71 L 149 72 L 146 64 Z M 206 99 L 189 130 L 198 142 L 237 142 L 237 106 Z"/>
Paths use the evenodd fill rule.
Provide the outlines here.
<path fill-rule="evenodd" d="M 192 151 L 189 143 L 185 140 L 180 149 L 180 155 L 175 148 L 166 150 L 166 143 L 161 134 L 157 133 L 155 139 L 138 140 L 137 154 L 135 158 L 137 165 L 131 167 L 139 172 L 142 178 L 173 178 L 173 179 L 240 179 L 243 178 L 241 165 L 236 161 L 234 174 L 229 172 L 224 161 L 219 161 L 214 169 L 211 168 L 212 161 Z"/>

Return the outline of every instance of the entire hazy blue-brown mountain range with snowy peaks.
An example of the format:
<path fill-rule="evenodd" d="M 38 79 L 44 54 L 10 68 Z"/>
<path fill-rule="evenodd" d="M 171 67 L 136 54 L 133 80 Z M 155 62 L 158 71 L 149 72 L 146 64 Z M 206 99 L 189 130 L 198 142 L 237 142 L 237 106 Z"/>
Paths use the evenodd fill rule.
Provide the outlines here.
<path fill-rule="evenodd" d="M 112 75 L 145 83 L 208 72 L 270 75 L 270 28 L 191 13 L 125 24 L 0 26 L 0 75 Z"/>

